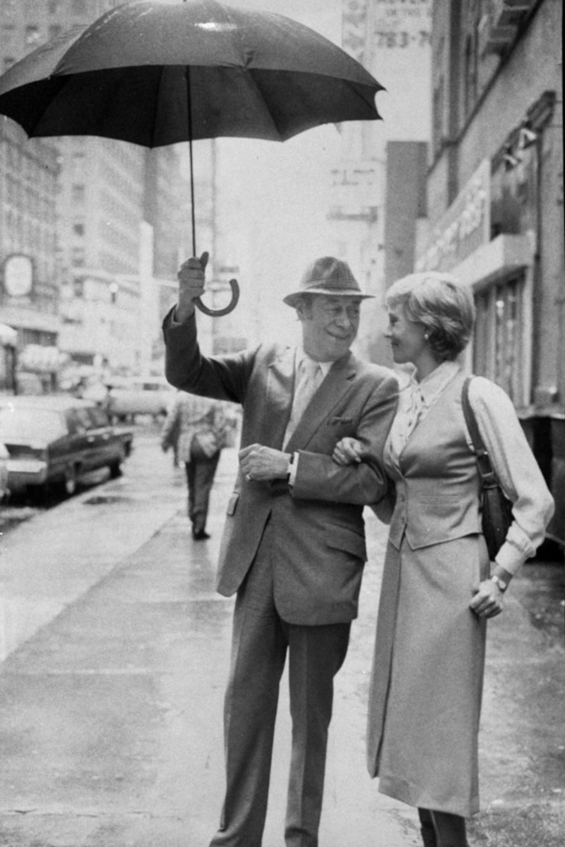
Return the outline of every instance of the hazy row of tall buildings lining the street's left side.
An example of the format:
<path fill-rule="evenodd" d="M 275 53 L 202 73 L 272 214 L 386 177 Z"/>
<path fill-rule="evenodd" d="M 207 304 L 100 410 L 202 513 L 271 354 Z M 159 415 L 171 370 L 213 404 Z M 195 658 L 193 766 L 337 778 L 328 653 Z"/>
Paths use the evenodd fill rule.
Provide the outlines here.
<path fill-rule="evenodd" d="M 86 27 L 120 2 L 0 0 L 3 69 L 65 30 Z M 15 303 L 19 313 L 26 307 L 27 323 L 19 313 L 3 313 L 3 320 L 19 330 L 20 376 L 31 369 L 47 390 L 57 387 L 57 376 L 63 376 L 68 385 L 69 380 L 89 372 L 126 373 L 141 366 L 162 369 L 158 306 L 150 334 L 139 332 L 141 323 L 147 326 L 147 303 L 142 301 L 151 289 L 143 264 L 144 242 L 147 232 L 152 232 L 149 273 L 156 278 L 158 291 L 168 291 L 166 280 L 175 279 L 190 231 L 186 224 L 190 191 L 182 147 L 150 151 L 90 136 L 27 140 L 12 121 L 1 120 L 0 259 L 4 263 L 12 254 L 21 254 L 29 257 L 33 268 L 30 302 L 24 302 L 20 294 Z M 13 170 L 10 162 L 14 162 Z M 22 185 L 21 191 L 14 179 Z M 36 202 L 36 194 L 42 192 L 45 196 Z M 14 197 L 20 207 L 29 204 L 29 212 L 15 209 Z M 34 216 L 28 232 L 26 221 Z M 150 230 L 144 229 L 146 223 Z M 28 232 L 27 241 L 14 242 L 11 233 L 16 224 Z M 43 245 L 47 243 L 46 255 Z M 7 296 L 3 285 L 3 297 Z M 11 305 L 13 300 L 12 296 Z M 158 304 L 160 298 L 151 296 L 150 302 Z M 27 350 L 30 344 L 34 345 L 31 351 Z M 49 352 L 37 346 L 48 346 Z M 40 373 L 47 367 L 47 374 Z"/>

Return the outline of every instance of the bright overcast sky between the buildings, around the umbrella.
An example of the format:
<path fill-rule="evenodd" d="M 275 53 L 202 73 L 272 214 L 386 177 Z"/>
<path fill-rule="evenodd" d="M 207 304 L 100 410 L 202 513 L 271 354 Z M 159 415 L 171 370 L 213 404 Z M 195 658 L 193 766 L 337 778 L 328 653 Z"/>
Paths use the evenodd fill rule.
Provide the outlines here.
<path fill-rule="evenodd" d="M 341 45 L 341 0 L 229 2 L 285 14 Z M 326 215 L 341 136 L 334 125 L 325 125 L 284 144 L 217 143 L 219 241 L 227 254 L 222 261 L 241 266 L 242 292 L 251 285 L 254 298 L 278 302 L 281 286 L 288 291 L 313 257 L 332 252 Z M 268 303 L 265 307 L 268 311 Z"/>

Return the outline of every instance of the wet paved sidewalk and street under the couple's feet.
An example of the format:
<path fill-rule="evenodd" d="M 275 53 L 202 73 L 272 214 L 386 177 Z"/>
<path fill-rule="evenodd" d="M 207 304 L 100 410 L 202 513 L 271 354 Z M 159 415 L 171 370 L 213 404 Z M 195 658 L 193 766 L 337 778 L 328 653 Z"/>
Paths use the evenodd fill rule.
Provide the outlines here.
<path fill-rule="evenodd" d="M 207 847 L 223 793 L 221 713 L 232 600 L 213 590 L 236 455 L 224 451 L 212 539 L 188 532 L 183 472 L 151 430 L 121 479 L 3 536 L 0 845 Z M 385 530 L 367 515 L 360 617 L 336 685 L 320 847 L 416 847 L 416 815 L 364 767 Z M 490 624 L 473 847 L 557 847 L 565 831 L 562 565 L 523 567 Z M 283 685 L 285 691 L 285 685 Z M 283 694 L 263 847 L 282 847 Z"/>

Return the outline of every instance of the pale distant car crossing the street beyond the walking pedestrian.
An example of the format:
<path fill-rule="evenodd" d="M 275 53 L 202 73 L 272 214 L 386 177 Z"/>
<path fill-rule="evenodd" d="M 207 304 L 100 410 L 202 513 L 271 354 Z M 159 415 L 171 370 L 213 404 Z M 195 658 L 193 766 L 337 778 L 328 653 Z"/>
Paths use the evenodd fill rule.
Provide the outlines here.
<path fill-rule="evenodd" d="M 116 377 L 110 385 L 93 385 L 83 397 L 97 401 L 113 418 L 134 421 L 136 415 L 165 415 L 174 399 L 174 388 L 164 377 Z M 102 389 L 104 386 L 102 386 Z"/>

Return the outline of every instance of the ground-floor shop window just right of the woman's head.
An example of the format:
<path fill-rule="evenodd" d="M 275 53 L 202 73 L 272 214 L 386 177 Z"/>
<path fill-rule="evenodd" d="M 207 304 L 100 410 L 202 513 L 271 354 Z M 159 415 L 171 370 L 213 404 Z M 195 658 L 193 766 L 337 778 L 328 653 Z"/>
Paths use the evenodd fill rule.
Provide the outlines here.
<path fill-rule="evenodd" d="M 476 297 L 474 373 L 492 379 L 515 406 L 523 405 L 523 276 L 492 285 Z"/>

